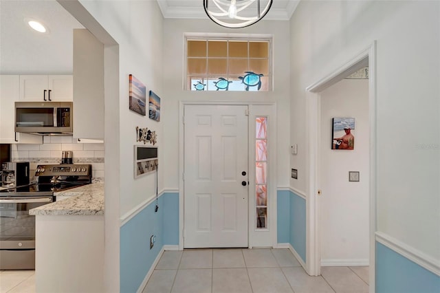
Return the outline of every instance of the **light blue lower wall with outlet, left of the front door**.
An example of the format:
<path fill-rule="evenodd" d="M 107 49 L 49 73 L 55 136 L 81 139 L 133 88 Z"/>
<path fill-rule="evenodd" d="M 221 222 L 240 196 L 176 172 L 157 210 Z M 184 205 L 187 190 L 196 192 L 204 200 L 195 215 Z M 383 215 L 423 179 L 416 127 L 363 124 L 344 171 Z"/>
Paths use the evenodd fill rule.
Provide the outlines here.
<path fill-rule="evenodd" d="M 136 292 L 164 245 L 179 244 L 179 193 L 164 193 L 120 228 L 120 292 Z M 150 237 L 156 241 L 150 249 Z"/>

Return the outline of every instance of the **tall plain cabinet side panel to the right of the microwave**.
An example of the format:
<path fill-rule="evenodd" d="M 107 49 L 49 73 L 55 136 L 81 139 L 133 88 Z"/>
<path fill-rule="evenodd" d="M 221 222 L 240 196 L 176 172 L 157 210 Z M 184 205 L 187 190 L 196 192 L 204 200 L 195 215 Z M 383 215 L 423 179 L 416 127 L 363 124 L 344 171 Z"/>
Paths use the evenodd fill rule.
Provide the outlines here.
<path fill-rule="evenodd" d="M 104 44 L 86 29 L 74 30 L 74 138 L 104 139 Z"/>

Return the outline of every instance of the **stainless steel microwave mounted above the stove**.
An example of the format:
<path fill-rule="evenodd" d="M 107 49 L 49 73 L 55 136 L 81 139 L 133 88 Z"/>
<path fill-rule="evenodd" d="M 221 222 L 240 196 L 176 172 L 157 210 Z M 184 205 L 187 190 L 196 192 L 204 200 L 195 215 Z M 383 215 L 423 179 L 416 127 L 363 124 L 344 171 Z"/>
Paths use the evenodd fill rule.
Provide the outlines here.
<path fill-rule="evenodd" d="M 72 135 L 72 102 L 15 102 L 15 131 Z"/>

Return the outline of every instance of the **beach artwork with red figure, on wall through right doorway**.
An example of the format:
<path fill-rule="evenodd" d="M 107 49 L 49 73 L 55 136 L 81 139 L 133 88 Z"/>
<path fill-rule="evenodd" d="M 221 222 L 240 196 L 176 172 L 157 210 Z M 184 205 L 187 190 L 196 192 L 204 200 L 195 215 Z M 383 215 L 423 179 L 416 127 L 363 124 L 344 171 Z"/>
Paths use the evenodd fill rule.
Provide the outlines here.
<path fill-rule="evenodd" d="M 331 149 L 355 148 L 355 118 L 333 118 Z"/>

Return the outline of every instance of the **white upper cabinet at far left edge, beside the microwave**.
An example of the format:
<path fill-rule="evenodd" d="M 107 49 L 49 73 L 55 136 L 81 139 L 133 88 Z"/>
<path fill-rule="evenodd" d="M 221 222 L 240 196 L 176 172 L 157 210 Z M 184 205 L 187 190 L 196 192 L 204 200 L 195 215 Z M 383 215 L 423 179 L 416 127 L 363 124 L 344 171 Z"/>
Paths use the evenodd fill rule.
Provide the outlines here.
<path fill-rule="evenodd" d="M 14 131 L 15 106 L 20 96 L 20 77 L 0 75 L 0 143 L 43 144 L 43 136 Z"/>

